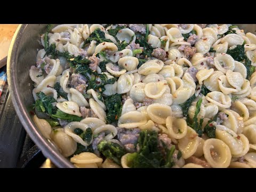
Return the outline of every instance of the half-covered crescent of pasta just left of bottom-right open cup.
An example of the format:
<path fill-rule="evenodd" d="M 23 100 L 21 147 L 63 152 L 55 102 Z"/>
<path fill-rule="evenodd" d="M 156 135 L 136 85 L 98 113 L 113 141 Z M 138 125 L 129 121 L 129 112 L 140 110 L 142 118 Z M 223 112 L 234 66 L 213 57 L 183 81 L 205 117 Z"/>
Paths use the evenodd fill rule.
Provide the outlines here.
<path fill-rule="evenodd" d="M 199 145 L 197 135 L 195 130 L 188 126 L 186 136 L 178 140 L 178 147 L 184 159 L 191 157 L 196 152 Z"/>

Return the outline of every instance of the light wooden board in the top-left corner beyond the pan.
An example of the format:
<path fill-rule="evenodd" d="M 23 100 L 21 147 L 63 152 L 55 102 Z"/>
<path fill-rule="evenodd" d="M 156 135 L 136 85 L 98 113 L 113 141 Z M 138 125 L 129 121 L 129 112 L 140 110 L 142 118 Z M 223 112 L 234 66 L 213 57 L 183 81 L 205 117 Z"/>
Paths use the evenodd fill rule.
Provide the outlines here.
<path fill-rule="evenodd" d="M 18 24 L 0 24 L 0 61 L 7 56 L 12 36 L 18 26 Z"/>

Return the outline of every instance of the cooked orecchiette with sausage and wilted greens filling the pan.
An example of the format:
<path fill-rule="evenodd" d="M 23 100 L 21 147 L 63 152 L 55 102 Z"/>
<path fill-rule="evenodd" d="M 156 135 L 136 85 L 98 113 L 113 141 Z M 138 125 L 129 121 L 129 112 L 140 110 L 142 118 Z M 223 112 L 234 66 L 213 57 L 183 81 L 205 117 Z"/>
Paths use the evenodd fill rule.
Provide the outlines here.
<path fill-rule="evenodd" d="M 228 24 L 65 24 L 33 120 L 79 168 L 256 167 L 256 36 Z"/>

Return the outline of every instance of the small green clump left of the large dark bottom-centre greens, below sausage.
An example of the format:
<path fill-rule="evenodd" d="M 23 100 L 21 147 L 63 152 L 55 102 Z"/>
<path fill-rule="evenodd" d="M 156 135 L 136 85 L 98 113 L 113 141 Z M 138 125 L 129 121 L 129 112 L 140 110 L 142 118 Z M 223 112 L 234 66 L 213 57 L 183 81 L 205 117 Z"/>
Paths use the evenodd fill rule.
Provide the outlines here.
<path fill-rule="evenodd" d="M 105 140 L 98 144 L 98 150 L 118 165 L 121 165 L 121 157 L 126 154 L 125 149 L 119 144 Z"/>

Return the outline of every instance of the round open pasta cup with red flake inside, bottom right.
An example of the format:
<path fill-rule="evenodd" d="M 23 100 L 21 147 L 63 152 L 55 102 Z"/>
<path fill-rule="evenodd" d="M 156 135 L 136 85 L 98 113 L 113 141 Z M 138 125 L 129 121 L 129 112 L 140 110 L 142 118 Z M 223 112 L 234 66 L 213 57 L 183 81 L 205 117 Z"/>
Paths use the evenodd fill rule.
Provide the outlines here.
<path fill-rule="evenodd" d="M 207 139 L 203 146 L 206 161 L 214 168 L 226 168 L 231 162 L 231 153 L 225 142 L 219 139 Z"/>

